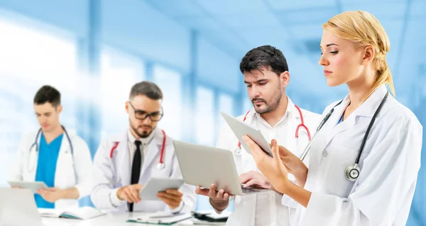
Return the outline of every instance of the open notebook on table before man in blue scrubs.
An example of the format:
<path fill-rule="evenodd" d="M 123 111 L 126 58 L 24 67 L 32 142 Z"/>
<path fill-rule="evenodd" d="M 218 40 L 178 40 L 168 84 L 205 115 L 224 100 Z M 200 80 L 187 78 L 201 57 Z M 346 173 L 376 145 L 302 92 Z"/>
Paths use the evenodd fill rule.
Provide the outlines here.
<path fill-rule="evenodd" d="M 40 212 L 41 217 L 63 217 L 63 218 L 71 218 L 71 219 L 80 219 L 87 220 L 92 219 L 94 217 L 99 217 L 102 215 L 106 215 L 106 213 L 96 210 L 91 207 L 82 207 L 78 209 L 70 209 L 70 210 L 55 210 L 55 209 L 43 209 L 38 208 L 38 212 Z"/>

